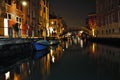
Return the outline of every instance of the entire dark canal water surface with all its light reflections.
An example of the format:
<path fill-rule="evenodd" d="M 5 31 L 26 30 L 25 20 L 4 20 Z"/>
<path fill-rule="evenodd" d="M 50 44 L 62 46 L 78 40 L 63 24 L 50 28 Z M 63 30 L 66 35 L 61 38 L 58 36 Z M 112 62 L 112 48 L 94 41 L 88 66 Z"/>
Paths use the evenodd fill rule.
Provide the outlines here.
<path fill-rule="evenodd" d="M 0 80 L 120 80 L 120 48 L 69 39 L 49 52 L 6 60 Z"/>

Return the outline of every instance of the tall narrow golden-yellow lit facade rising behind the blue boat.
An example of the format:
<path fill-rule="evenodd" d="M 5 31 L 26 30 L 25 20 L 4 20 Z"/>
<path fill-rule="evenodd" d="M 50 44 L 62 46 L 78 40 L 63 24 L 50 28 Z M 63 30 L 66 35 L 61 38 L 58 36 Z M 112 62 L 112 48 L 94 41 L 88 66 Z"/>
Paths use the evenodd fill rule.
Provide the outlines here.
<path fill-rule="evenodd" d="M 48 36 L 49 27 L 49 1 L 40 0 L 40 11 L 39 11 L 39 31 L 40 37 Z"/>

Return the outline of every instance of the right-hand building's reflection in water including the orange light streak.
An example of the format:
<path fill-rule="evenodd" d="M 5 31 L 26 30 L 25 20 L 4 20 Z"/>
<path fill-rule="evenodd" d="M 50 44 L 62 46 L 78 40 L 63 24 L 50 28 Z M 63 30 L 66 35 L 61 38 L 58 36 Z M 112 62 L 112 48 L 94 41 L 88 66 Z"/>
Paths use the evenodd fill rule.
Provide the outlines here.
<path fill-rule="evenodd" d="M 92 43 L 89 47 L 90 53 L 94 54 L 96 57 L 104 57 L 106 59 L 110 59 L 110 61 L 120 61 L 120 48 L 119 47 L 112 47 L 102 44 Z"/>

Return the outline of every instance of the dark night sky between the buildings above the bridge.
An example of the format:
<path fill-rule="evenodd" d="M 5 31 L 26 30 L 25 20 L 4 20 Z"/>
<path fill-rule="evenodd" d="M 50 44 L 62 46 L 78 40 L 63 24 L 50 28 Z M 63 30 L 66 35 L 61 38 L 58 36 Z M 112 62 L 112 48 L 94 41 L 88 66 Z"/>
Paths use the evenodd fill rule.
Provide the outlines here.
<path fill-rule="evenodd" d="M 95 10 L 95 0 L 50 0 L 50 12 L 63 17 L 68 27 L 84 25 L 88 13 Z"/>

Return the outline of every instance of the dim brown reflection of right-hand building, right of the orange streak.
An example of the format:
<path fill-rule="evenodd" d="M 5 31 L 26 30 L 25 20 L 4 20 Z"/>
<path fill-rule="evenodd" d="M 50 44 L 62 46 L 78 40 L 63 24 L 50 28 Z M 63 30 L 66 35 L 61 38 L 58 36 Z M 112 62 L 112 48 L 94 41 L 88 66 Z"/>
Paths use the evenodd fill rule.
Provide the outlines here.
<path fill-rule="evenodd" d="M 103 56 L 110 61 L 120 63 L 120 48 L 105 46 L 105 45 L 97 45 L 96 46 L 97 56 Z"/>

